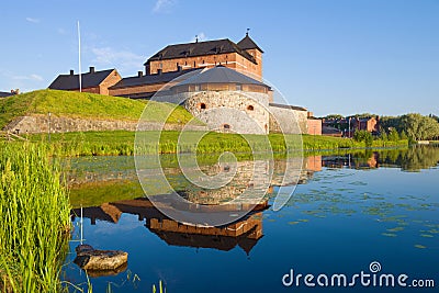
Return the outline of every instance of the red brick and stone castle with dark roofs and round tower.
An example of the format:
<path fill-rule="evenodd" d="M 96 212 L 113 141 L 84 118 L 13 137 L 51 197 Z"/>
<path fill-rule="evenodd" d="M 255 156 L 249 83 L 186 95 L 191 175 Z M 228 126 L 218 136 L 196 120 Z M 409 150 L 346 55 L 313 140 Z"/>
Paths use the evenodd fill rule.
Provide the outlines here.
<path fill-rule="evenodd" d="M 248 32 L 238 43 L 196 40 L 166 46 L 133 77 L 90 67 L 81 75 L 81 90 L 183 104 L 210 129 L 219 132 L 320 134 L 320 121 L 306 109 L 273 102 L 273 90 L 262 81 L 262 54 Z M 70 70 L 48 88 L 77 91 L 79 76 Z"/>

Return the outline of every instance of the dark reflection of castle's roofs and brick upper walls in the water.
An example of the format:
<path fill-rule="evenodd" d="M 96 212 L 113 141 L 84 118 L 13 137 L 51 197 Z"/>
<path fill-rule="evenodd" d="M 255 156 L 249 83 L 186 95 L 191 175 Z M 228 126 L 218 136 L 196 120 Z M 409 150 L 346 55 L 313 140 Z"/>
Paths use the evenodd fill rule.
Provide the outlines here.
<path fill-rule="evenodd" d="M 145 226 L 168 245 L 225 251 L 238 246 L 248 255 L 263 236 L 262 211 L 267 207 L 266 201 L 246 217 L 219 227 L 192 226 L 176 222 L 154 207 L 146 198 L 85 207 L 82 216 L 90 218 L 94 225 L 97 219 L 117 224 L 123 213 L 137 215 L 138 221 L 145 221 Z M 75 219 L 75 215 L 80 215 L 80 209 L 75 209 L 71 213 Z"/>

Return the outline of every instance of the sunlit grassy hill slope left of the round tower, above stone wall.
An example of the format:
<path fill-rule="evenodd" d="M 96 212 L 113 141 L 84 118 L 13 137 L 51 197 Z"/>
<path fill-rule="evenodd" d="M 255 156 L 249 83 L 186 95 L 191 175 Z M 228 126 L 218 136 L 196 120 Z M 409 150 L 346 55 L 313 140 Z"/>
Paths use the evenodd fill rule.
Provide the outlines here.
<path fill-rule="evenodd" d="M 146 101 L 109 97 L 87 92 L 37 90 L 0 99 L 0 129 L 13 119 L 30 114 L 52 113 L 56 116 L 79 119 L 102 119 L 137 121 Z M 150 102 L 148 121 L 159 122 L 176 105 Z M 148 106 L 148 109 L 149 109 Z M 182 106 L 177 106 L 168 123 L 187 123 L 192 115 Z"/>

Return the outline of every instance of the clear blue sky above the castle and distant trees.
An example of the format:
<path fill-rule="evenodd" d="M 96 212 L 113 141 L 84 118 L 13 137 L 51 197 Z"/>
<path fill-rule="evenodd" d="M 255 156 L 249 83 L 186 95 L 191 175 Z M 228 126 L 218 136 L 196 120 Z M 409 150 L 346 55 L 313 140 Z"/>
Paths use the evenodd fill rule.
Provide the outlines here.
<path fill-rule="evenodd" d="M 136 75 L 168 44 L 250 36 L 263 76 L 316 115 L 439 114 L 438 0 L 9 1 L 0 4 L 0 91 L 47 88 L 58 74 Z"/>

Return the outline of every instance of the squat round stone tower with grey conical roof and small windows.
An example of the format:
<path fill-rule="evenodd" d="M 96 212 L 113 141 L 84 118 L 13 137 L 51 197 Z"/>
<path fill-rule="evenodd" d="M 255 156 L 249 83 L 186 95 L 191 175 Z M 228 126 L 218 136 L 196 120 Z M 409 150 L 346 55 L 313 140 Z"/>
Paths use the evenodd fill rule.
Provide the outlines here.
<path fill-rule="evenodd" d="M 205 68 L 171 88 L 185 109 L 217 132 L 269 133 L 269 86 L 224 66 Z"/>

